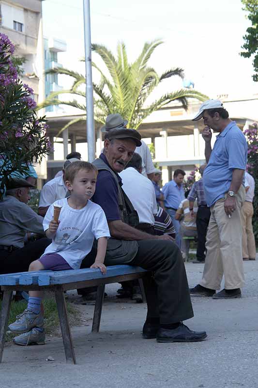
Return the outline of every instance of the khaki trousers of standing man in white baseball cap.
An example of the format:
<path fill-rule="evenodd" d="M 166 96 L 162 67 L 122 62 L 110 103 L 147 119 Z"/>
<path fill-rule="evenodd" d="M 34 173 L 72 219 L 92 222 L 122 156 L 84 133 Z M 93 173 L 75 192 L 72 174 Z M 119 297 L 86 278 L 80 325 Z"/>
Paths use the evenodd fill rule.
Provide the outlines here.
<path fill-rule="evenodd" d="M 241 223 L 241 208 L 245 200 L 243 185 L 236 194 L 236 210 L 231 218 L 224 210 L 226 198 L 227 194 L 211 207 L 206 239 L 207 254 L 202 280 L 199 282 L 201 286 L 212 290 L 220 290 L 223 274 L 226 290 L 244 286 Z"/>

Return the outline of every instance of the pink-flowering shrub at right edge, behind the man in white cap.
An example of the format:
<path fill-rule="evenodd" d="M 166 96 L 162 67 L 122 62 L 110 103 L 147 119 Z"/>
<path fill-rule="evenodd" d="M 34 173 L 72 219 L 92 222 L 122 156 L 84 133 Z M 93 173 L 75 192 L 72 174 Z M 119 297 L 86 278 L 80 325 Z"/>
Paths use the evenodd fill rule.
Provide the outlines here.
<path fill-rule="evenodd" d="M 253 227 L 258 242 L 258 126 L 254 123 L 244 131 L 248 143 L 247 171 L 255 179 Z"/>

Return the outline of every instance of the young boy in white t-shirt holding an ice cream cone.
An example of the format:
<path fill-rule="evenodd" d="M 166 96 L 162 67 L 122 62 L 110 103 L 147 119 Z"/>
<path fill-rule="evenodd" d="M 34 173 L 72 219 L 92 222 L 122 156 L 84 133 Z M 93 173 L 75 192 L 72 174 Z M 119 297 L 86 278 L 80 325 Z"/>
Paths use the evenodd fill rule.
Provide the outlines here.
<path fill-rule="evenodd" d="M 97 256 L 91 268 L 106 274 L 104 259 L 110 237 L 106 216 L 99 205 L 89 201 L 95 192 L 97 174 L 96 167 L 88 162 L 74 162 L 65 169 L 65 184 L 71 196 L 57 200 L 47 210 L 43 227 L 52 243 L 41 258 L 30 264 L 29 271 L 78 269 L 95 238 Z M 54 206 L 61 207 L 59 221 L 53 219 Z M 41 301 L 42 291 L 30 291 L 28 307 L 9 325 L 9 330 L 20 334 L 14 338 L 16 344 L 45 344 Z"/>

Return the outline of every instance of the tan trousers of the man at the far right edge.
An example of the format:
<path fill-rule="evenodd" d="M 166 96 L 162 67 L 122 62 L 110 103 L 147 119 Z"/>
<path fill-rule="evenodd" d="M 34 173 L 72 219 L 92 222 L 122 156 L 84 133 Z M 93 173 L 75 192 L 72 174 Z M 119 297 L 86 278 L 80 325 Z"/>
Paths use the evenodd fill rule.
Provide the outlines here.
<path fill-rule="evenodd" d="M 243 258 L 255 259 L 256 247 L 255 247 L 255 236 L 253 232 L 252 217 L 254 214 L 254 208 L 252 202 L 245 201 L 242 208 L 242 250 Z"/>

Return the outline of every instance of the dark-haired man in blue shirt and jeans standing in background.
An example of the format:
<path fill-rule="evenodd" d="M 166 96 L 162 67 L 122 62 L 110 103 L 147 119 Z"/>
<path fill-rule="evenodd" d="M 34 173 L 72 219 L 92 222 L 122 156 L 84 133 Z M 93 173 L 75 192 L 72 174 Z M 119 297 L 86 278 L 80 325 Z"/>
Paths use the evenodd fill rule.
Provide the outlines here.
<path fill-rule="evenodd" d="M 175 219 L 175 215 L 181 201 L 184 199 L 184 190 L 182 186 L 184 176 L 185 172 L 183 170 L 175 170 L 173 174 L 173 180 L 166 183 L 162 189 L 162 192 L 165 196 L 164 205 L 175 227 L 176 243 L 179 248 L 181 248 L 180 223 Z"/>

